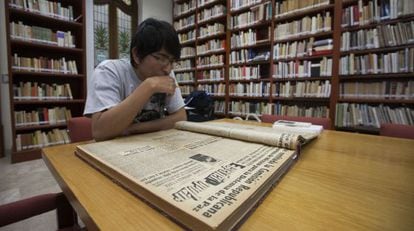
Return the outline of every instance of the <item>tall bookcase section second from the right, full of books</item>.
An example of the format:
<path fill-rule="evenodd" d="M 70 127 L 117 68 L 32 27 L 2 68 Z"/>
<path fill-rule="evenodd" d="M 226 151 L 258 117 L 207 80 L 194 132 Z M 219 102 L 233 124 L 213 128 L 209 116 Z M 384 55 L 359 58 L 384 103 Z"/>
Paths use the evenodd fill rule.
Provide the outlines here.
<path fill-rule="evenodd" d="M 334 9 L 333 0 L 275 0 L 271 114 L 330 117 Z"/>

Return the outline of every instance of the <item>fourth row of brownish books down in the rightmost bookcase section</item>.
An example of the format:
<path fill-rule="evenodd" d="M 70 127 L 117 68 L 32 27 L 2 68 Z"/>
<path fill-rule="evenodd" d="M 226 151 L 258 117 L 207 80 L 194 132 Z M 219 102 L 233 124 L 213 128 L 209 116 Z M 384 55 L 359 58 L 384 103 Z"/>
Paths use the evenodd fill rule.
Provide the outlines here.
<path fill-rule="evenodd" d="M 339 91 L 342 98 L 414 99 L 414 81 L 344 82 Z"/>

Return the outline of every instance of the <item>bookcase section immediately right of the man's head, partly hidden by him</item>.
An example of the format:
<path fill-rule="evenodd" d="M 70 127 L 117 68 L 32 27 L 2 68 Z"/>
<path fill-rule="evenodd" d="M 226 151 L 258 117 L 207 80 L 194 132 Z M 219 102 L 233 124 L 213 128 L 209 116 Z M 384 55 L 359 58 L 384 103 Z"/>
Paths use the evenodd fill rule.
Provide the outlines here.
<path fill-rule="evenodd" d="M 174 72 L 183 97 L 193 90 L 206 90 L 214 97 L 215 113 L 225 115 L 227 3 L 190 0 L 173 1 L 173 5 L 174 27 L 183 46 Z"/>

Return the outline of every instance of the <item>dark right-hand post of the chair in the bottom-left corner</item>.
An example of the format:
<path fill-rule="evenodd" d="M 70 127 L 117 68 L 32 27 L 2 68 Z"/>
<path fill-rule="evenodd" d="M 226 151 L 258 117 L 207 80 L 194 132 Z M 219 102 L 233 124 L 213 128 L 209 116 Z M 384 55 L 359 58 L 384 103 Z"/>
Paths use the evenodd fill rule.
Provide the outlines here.
<path fill-rule="evenodd" d="M 78 216 L 69 201 L 66 199 L 65 195 L 60 193 L 56 200 L 58 229 L 74 226 L 78 227 Z"/>

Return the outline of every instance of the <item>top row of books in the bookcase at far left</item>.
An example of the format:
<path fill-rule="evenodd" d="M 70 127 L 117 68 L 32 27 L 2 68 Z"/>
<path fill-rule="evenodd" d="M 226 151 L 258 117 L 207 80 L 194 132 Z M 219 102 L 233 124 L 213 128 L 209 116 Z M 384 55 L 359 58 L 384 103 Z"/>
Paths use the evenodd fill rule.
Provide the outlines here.
<path fill-rule="evenodd" d="M 9 6 L 62 20 L 74 20 L 73 7 L 47 0 L 11 0 Z"/>

